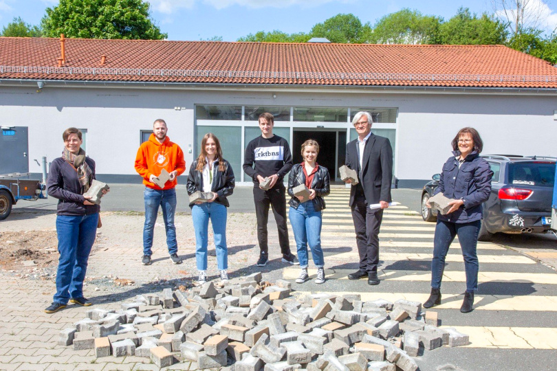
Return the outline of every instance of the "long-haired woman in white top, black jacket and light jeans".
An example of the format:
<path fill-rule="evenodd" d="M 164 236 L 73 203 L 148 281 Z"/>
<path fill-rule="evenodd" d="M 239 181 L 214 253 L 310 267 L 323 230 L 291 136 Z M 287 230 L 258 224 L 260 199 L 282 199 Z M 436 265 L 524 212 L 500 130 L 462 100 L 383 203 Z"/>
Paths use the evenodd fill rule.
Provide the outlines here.
<path fill-rule="evenodd" d="M 188 176 L 188 194 L 196 191 L 212 193 L 207 202 L 190 203 L 193 227 L 195 229 L 195 260 L 199 271 L 199 283 L 207 281 L 207 244 L 209 219 L 215 234 L 217 269 L 221 280 L 228 280 L 228 249 L 226 247 L 227 196 L 234 192 L 234 172 L 232 166 L 223 159 L 219 139 L 207 133 L 201 140 L 201 152 L 193 161 Z"/>

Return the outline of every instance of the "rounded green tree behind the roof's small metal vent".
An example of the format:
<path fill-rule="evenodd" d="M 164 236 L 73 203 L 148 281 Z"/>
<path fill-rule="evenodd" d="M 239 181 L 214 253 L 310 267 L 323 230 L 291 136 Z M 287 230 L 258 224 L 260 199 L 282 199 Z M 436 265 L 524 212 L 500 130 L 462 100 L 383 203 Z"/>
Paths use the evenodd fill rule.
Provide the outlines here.
<path fill-rule="evenodd" d="M 312 37 L 325 37 L 331 43 L 360 44 L 363 42 L 363 28 L 362 22 L 354 14 L 337 14 L 314 25 L 309 34 Z"/>

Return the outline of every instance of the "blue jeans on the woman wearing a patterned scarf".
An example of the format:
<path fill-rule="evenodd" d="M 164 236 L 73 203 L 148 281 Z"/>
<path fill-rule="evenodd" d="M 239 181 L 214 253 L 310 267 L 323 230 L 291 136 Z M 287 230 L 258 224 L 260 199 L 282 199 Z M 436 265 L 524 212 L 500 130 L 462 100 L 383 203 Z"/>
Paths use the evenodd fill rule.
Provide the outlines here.
<path fill-rule="evenodd" d="M 54 302 L 67 304 L 70 297 L 83 297 L 87 260 L 97 233 L 98 214 L 56 216 L 58 273 Z"/>

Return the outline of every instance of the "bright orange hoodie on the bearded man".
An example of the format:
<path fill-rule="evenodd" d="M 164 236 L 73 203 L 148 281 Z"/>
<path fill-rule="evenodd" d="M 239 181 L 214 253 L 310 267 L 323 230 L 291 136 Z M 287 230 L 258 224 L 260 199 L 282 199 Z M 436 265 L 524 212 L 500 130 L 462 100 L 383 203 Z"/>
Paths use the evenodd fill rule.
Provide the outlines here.
<path fill-rule="evenodd" d="M 170 141 L 168 136 L 164 142 L 159 143 L 154 134 L 151 134 L 147 142 L 143 142 L 138 149 L 138 155 L 135 156 L 135 171 L 143 177 L 143 184 L 153 190 L 161 188 L 155 183 L 149 181 L 151 174 L 158 177 L 162 169 L 168 172 L 177 171 L 177 175 L 173 181 L 167 181 L 163 190 L 174 188 L 177 184 L 178 175 L 186 171 L 186 161 L 184 161 L 184 153 L 182 148 Z"/>

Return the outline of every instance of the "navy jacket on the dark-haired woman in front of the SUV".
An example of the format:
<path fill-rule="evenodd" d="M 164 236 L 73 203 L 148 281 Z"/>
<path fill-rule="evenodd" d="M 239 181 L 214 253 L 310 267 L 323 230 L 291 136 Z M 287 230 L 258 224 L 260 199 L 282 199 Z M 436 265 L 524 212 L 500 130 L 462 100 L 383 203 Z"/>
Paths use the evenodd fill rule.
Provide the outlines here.
<path fill-rule="evenodd" d="M 470 223 L 481 219 L 481 204 L 488 201 L 491 192 L 491 178 L 493 172 L 488 164 L 476 151 L 466 156 L 459 167 L 460 151 L 455 150 L 454 156 L 448 158 L 443 165 L 439 186 L 434 194 L 442 192 L 449 199 L 462 199 L 464 205 L 455 212 L 441 215 L 441 221 L 452 223 Z"/>

